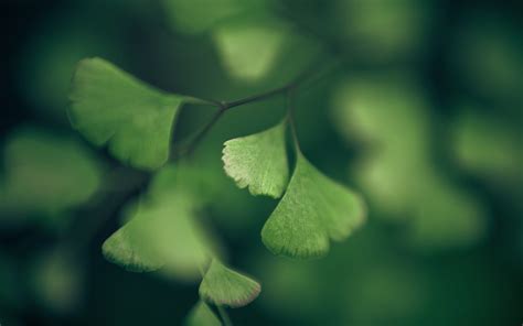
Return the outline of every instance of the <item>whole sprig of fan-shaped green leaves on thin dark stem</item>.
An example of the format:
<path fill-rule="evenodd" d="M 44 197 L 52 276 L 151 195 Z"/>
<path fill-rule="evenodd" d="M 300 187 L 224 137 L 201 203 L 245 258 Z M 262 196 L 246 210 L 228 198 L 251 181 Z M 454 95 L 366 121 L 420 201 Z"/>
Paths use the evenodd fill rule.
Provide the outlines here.
<path fill-rule="evenodd" d="M 252 195 L 280 198 L 262 230 L 267 249 L 278 256 L 311 259 L 324 256 L 330 241 L 344 240 L 365 219 L 361 197 L 318 171 L 303 155 L 295 128 L 295 93 L 313 73 L 282 87 L 233 101 L 167 94 L 138 80 L 102 58 L 79 63 L 71 93 L 70 119 L 87 140 L 107 145 L 124 164 L 153 172 L 147 194 L 125 209 L 127 222 L 103 246 L 111 262 L 134 272 L 177 279 L 202 278 L 200 297 L 189 325 L 218 325 L 206 305 L 241 307 L 257 297 L 258 282 L 223 262 L 220 244 L 199 219 L 212 193 L 205 175 L 195 172 L 191 154 L 216 121 L 245 104 L 284 95 L 287 116 L 277 126 L 225 142 L 225 173 Z M 181 145 L 171 134 L 183 105 L 215 107 L 213 118 Z M 290 129 L 296 164 L 289 171 L 286 134 Z M 158 171 L 158 172 L 157 172 Z M 289 174 L 291 174 L 289 180 Z M 212 196 L 206 196 L 212 198 Z"/>

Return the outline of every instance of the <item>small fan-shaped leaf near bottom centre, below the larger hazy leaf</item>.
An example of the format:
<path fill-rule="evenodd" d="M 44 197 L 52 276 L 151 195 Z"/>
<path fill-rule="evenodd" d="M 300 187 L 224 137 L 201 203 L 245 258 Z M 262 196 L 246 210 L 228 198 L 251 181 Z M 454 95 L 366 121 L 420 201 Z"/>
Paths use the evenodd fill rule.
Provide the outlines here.
<path fill-rule="evenodd" d="M 200 297 L 214 305 L 242 307 L 253 302 L 260 290 L 258 282 L 213 259 L 200 284 Z"/>

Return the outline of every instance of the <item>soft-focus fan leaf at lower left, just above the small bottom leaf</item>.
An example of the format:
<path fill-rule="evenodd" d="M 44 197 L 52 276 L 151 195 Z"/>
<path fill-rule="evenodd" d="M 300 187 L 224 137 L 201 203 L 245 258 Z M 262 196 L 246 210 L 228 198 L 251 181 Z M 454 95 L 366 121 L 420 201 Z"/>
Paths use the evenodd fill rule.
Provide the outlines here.
<path fill-rule="evenodd" d="M 162 268 L 168 275 L 194 279 L 214 256 L 211 238 L 196 219 L 200 202 L 172 178 L 175 167 L 158 173 L 148 196 L 129 210 L 129 221 L 105 241 L 107 260 L 128 271 Z"/>

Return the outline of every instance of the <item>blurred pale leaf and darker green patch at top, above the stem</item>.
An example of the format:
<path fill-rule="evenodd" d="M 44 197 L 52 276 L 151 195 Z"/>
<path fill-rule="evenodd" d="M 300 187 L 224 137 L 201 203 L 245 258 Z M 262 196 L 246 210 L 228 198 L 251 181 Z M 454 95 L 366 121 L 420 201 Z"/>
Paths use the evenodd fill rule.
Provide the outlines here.
<path fill-rule="evenodd" d="M 206 35 L 235 80 L 256 83 L 277 70 L 297 72 L 318 52 L 317 42 L 275 12 L 264 0 L 163 0 L 168 21 L 182 34 Z"/>

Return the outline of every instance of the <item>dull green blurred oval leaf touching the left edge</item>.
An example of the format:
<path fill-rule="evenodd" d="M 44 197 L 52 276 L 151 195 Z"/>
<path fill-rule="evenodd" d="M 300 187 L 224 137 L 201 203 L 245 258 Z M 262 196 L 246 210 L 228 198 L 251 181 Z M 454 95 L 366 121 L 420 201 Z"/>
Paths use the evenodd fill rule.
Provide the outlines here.
<path fill-rule="evenodd" d="M 100 166 L 75 140 L 24 128 L 4 148 L 6 176 L 0 183 L 4 215 L 42 215 L 49 221 L 86 203 L 98 189 Z"/>

